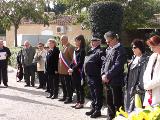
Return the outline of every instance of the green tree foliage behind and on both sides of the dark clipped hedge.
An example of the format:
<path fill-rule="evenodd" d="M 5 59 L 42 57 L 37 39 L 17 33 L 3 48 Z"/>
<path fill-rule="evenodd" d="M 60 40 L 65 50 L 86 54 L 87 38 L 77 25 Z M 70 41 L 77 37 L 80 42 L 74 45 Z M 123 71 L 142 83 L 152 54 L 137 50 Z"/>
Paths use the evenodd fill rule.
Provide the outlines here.
<path fill-rule="evenodd" d="M 123 30 L 132 30 L 139 27 L 152 27 L 153 24 L 149 22 L 149 20 L 154 18 L 155 13 L 160 12 L 159 0 L 57 0 L 58 3 L 63 3 L 67 6 L 66 12 L 68 14 L 74 15 L 77 13 L 78 15 L 81 15 L 82 8 L 86 8 L 86 14 L 88 14 L 89 6 L 100 1 L 115 1 L 123 6 Z M 86 15 L 86 18 L 83 21 L 84 26 L 89 25 L 87 21 L 88 16 Z"/>

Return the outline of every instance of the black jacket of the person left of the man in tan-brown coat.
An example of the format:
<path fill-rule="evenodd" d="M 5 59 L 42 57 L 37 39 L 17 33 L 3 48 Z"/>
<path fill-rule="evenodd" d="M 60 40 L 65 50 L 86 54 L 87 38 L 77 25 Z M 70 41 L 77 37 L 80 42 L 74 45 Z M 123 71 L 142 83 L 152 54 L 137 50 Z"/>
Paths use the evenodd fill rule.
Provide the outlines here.
<path fill-rule="evenodd" d="M 59 49 L 57 47 L 49 50 L 46 56 L 45 70 L 47 74 L 55 74 L 58 71 Z"/>

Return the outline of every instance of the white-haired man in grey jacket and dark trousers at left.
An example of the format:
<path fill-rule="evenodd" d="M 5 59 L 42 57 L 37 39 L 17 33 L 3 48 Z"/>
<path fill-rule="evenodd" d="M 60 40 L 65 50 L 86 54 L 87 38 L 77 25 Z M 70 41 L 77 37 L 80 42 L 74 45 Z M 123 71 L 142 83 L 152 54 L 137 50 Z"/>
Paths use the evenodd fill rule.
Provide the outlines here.
<path fill-rule="evenodd" d="M 24 48 L 22 50 L 22 64 L 24 68 L 24 80 L 26 82 L 25 87 L 29 87 L 30 84 L 34 87 L 35 84 L 35 66 L 32 63 L 35 52 L 35 49 L 30 45 L 29 41 L 25 41 Z"/>

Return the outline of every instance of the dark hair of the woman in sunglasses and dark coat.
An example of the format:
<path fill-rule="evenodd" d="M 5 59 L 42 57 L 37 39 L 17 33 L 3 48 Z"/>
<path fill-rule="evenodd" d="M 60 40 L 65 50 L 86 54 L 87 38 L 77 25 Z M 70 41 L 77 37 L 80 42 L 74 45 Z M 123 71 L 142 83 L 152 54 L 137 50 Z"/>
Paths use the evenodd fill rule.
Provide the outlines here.
<path fill-rule="evenodd" d="M 146 49 L 145 49 L 145 43 L 144 43 L 143 40 L 141 40 L 141 39 L 134 39 L 133 42 L 131 43 L 132 47 L 133 47 L 133 45 L 135 47 L 139 48 L 142 53 L 145 53 Z"/>

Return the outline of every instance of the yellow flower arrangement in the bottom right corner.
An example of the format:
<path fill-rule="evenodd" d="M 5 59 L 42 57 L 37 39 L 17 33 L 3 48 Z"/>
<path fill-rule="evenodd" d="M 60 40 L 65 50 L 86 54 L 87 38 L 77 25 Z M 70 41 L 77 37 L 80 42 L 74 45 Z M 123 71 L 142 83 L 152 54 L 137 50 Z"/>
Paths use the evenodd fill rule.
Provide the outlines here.
<path fill-rule="evenodd" d="M 139 96 L 135 95 L 135 107 L 131 113 L 123 111 L 120 107 L 114 120 L 160 120 L 160 105 L 147 106 L 143 109 Z"/>

